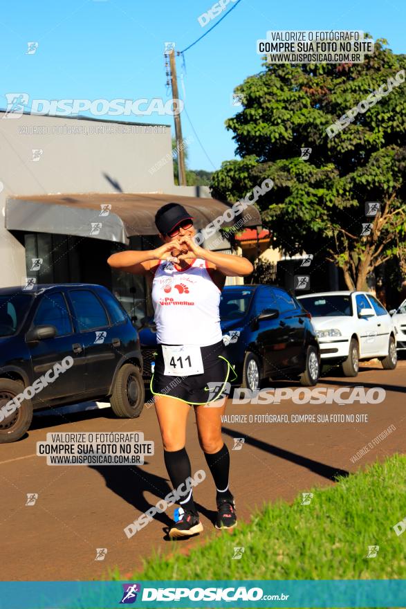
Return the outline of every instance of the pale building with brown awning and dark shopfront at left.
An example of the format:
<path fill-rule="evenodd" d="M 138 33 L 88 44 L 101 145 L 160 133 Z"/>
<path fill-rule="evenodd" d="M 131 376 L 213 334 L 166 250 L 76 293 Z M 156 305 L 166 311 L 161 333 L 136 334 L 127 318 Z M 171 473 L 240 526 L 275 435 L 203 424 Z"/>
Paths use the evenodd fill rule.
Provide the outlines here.
<path fill-rule="evenodd" d="M 0 287 L 26 278 L 102 284 L 140 320 L 151 312 L 145 278 L 111 269 L 107 258 L 158 247 L 154 217 L 165 203 L 181 203 L 197 230 L 232 206 L 212 199 L 207 187 L 174 184 L 169 125 L 32 114 L 16 120 L 1 111 L 0 120 Z M 255 206 L 238 219 L 261 224 Z M 231 251 L 218 237 L 203 246 Z"/>

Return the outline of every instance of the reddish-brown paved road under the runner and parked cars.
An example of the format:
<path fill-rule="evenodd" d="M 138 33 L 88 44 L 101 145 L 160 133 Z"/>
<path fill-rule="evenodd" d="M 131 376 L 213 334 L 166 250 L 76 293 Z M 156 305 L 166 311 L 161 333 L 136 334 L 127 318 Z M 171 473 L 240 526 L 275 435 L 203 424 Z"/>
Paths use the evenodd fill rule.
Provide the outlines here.
<path fill-rule="evenodd" d="M 224 421 L 225 442 L 244 437 L 241 450 L 231 452 L 232 489 L 239 517 L 248 519 L 255 505 L 277 498 L 292 500 L 313 485 L 333 484 L 337 471 L 353 472 L 368 462 L 406 448 L 406 361 L 394 371 L 380 364 L 362 367 L 357 379 L 331 376 L 320 387 L 364 385 L 385 389 L 382 403 L 369 405 L 295 404 L 284 400 L 273 404 L 237 405 L 229 401 Z M 294 385 L 291 385 L 295 388 Z M 297 385 L 296 385 L 297 387 Z M 249 421 L 250 415 L 288 415 L 289 423 Z M 354 422 L 293 422 L 294 415 L 354 415 Z M 234 415 L 234 418 L 232 417 Z M 240 419 L 236 419 L 239 415 Z M 242 421 L 241 415 L 247 420 Z M 357 415 L 367 421 L 357 422 Z M 347 418 L 347 417 L 345 417 Z M 365 417 L 359 417 L 364 418 Z M 193 413 L 188 424 L 187 449 L 192 471 L 207 469 L 196 442 Z M 392 432 L 373 439 L 394 426 Z M 143 466 L 47 466 L 37 457 L 36 442 L 47 432 L 143 431 L 156 442 L 156 451 Z M 354 458 L 363 446 L 372 448 Z M 359 455 L 358 455 L 359 456 Z M 158 516 L 131 539 L 124 527 L 170 490 L 163 465 L 154 408 L 145 409 L 136 421 L 114 419 L 110 408 L 35 416 L 33 428 L 16 444 L 0 446 L 1 484 L 1 579 L 3 580 L 90 580 L 107 576 L 118 566 L 129 574 L 153 548 L 170 549 L 164 529 L 169 520 Z M 38 493 L 35 505 L 26 506 L 26 494 Z M 214 493 L 210 477 L 195 490 L 205 534 L 214 533 Z M 172 513 L 170 514 L 172 516 Z M 183 544 L 201 543 L 183 541 Z M 226 543 L 232 545 L 232 540 Z M 103 561 L 95 561 L 96 548 L 107 548 Z"/>

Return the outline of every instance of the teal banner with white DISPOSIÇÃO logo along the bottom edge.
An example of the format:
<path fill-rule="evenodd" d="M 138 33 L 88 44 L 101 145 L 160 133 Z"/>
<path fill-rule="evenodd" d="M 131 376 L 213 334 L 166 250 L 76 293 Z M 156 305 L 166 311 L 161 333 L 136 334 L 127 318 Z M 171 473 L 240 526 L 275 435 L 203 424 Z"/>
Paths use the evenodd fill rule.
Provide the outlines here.
<path fill-rule="evenodd" d="M 0 582 L 1 609 L 405 607 L 406 580 Z"/>

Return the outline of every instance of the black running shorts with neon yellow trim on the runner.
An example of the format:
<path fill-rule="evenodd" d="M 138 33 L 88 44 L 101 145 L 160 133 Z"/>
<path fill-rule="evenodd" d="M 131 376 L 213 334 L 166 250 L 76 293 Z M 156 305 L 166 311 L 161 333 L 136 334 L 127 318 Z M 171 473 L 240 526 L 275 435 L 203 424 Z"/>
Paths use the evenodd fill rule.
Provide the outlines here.
<path fill-rule="evenodd" d="M 200 347 L 200 349 L 204 367 L 203 374 L 169 376 L 164 374 L 165 362 L 162 347 L 157 345 L 154 374 L 150 383 L 152 394 L 176 397 L 192 406 L 222 399 L 227 387 L 226 383 L 237 378 L 232 365 L 225 358 L 223 340 L 214 345 Z M 230 371 L 231 379 L 229 378 Z"/>

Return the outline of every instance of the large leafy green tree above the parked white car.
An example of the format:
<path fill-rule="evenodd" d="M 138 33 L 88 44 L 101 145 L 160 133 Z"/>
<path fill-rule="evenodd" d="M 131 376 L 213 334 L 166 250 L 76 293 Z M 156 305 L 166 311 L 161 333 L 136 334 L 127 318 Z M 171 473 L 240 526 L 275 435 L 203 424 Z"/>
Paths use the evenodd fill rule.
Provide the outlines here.
<path fill-rule="evenodd" d="M 376 266 L 406 255 L 405 68 L 385 39 L 362 64 L 264 63 L 235 90 L 243 107 L 225 125 L 240 158 L 214 173 L 212 196 L 237 200 L 273 179 L 258 203 L 276 245 L 324 257 L 365 289 Z"/>

